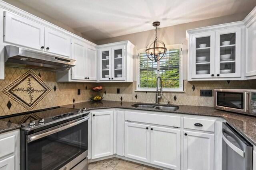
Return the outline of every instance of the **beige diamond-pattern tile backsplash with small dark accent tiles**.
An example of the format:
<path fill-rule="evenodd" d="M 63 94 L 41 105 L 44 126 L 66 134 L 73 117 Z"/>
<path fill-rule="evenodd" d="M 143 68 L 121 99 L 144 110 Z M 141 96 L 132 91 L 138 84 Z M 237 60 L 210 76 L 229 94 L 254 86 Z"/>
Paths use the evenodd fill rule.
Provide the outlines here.
<path fill-rule="evenodd" d="M 0 89 L 27 72 L 29 69 L 5 67 L 5 79 L 0 80 Z M 33 110 L 43 109 L 66 104 L 89 101 L 92 96 L 90 90 L 94 86 L 103 86 L 100 94 L 104 100 L 118 102 L 155 102 L 155 92 L 137 92 L 136 82 L 133 83 L 83 83 L 83 82 L 56 82 L 56 73 L 44 70 L 33 70 L 50 87 L 50 92 L 36 105 Z M 200 89 L 213 90 L 214 88 L 256 88 L 256 80 L 246 81 L 192 81 L 184 80 L 184 92 L 164 92 L 161 104 L 213 106 L 213 97 L 200 97 Z M 117 88 L 120 94 L 117 94 Z M 78 95 L 80 89 L 81 95 Z M 0 116 L 28 111 L 16 101 L 0 92 Z"/>

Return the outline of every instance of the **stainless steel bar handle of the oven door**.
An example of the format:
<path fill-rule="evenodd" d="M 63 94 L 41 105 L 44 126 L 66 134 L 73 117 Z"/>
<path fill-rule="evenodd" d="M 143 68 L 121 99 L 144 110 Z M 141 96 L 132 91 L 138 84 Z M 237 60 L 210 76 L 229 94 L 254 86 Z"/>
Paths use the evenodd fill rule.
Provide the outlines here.
<path fill-rule="evenodd" d="M 50 130 L 50 131 L 28 135 L 28 143 L 36 141 L 37 139 L 41 139 L 41 138 L 46 137 L 48 135 L 52 135 L 53 133 L 57 133 L 59 131 L 63 131 L 63 130 L 68 129 L 68 128 L 72 127 L 72 126 L 78 125 L 79 123 L 87 121 L 88 119 L 89 119 L 89 117 L 86 116 L 83 119 L 80 119 L 78 121 L 69 123 L 67 125 L 60 126 L 60 127 L 56 128 L 56 129 L 53 129 L 53 130 Z"/>

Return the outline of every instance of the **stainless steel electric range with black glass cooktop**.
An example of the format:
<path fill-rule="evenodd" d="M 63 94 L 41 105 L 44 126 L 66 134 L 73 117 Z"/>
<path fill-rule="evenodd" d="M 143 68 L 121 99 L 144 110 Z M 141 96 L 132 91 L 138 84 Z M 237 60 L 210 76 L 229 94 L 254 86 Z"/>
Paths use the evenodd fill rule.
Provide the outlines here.
<path fill-rule="evenodd" d="M 87 170 L 88 113 L 54 107 L 4 117 L 22 126 L 21 170 Z"/>

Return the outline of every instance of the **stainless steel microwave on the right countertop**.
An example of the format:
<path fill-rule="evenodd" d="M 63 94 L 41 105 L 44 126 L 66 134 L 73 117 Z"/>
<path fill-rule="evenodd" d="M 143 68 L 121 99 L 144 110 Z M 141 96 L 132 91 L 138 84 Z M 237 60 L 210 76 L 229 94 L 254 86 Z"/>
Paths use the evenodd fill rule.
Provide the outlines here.
<path fill-rule="evenodd" d="M 256 115 L 256 90 L 214 89 L 213 96 L 217 109 Z"/>

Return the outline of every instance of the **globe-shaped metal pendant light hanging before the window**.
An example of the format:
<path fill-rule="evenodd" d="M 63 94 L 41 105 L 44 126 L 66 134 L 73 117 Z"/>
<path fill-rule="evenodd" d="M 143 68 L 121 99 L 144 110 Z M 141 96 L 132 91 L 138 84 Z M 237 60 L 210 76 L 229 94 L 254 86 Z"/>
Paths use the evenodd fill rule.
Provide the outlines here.
<path fill-rule="evenodd" d="M 154 27 L 157 27 L 160 25 L 160 22 L 156 21 L 152 24 Z M 156 32 L 157 33 L 157 32 Z M 148 59 L 151 61 L 159 61 L 166 55 L 166 47 L 163 41 L 157 40 L 157 37 L 155 38 L 155 41 L 150 42 L 146 47 L 146 55 Z"/>

